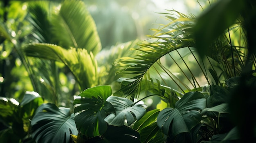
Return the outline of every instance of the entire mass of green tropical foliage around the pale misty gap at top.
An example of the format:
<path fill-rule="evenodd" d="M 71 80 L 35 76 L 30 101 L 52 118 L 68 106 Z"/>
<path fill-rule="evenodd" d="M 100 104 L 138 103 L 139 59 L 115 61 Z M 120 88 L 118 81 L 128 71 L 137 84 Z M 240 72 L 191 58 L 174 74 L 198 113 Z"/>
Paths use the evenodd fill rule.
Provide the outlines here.
<path fill-rule="evenodd" d="M 36 92 L 1 83 L 0 141 L 255 140 L 255 2 L 208 2 L 198 17 L 161 13 L 170 22 L 149 39 L 103 50 L 83 1 L 4 3 L 0 77 L 25 69 Z"/>

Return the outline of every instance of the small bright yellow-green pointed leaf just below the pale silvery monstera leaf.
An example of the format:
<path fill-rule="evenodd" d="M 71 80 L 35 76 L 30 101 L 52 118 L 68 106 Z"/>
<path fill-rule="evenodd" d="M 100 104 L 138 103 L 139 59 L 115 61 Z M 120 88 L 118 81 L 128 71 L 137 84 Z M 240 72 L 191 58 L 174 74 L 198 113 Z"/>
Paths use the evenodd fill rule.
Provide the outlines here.
<path fill-rule="evenodd" d="M 157 120 L 157 116 L 159 112 L 160 112 L 159 109 L 154 109 L 146 112 L 146 114 L 144 114 L 144 116 L 141 117 L 141 119 L 139 119 L 134 123 L 132 128 L 134 130 L 137 130 L 138 132 L 141 129 L 146 128 L 148 125 L 154 123 Z"/>

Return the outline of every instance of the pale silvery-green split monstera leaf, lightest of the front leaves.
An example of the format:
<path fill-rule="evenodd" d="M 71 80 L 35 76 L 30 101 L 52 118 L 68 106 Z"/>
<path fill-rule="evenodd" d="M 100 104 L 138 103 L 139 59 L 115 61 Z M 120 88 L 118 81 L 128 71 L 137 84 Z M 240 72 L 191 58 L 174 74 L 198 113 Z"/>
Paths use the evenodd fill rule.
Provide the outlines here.
<path fill-rule="evenodd" d="M 105 121 L 109 125 L 122 126 L 126 119 L 127 125 L 129 126 L 136 120 L 141 119 L 146 112 L 146 106 L 144 104 L 133 105 L 133 102 L 126 98 L 111 96 L 107 101 L 116 110 L 115 114 L 112 113 L 105 118 Z"/>

